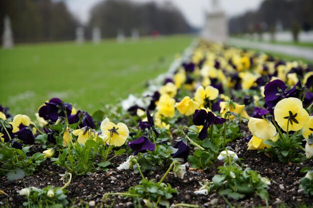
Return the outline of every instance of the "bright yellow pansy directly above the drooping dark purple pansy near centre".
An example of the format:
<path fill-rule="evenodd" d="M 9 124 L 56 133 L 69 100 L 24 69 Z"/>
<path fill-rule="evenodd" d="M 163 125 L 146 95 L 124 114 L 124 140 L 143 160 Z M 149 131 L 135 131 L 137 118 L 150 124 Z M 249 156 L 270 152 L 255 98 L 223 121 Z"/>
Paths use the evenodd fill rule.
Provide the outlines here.
<path fill-rule="evenodd" d="M 194 93 L 194 100 L 201 106 L 204 105 L 207 99 L 214 100 L 218 96 L 218 89 L 212 86 L 199 86 Z"/>

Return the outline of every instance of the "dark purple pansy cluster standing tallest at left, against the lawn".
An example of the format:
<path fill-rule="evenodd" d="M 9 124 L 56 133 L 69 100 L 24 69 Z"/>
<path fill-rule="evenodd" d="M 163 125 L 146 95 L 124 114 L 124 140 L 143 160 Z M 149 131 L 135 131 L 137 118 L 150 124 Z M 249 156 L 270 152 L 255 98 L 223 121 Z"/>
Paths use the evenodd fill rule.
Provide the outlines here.
<path fill-rule="evenodd" d="M 70 116 L 72 106 L 67 102 L 62 102 L 59 98 L 52 98 L 45 105 L 41 106 L 38 110 L 39 116 L 45 120 L 55 122 L 59 116 L 65 117 L 64 111 L 66 110 L 67 117 Z"/>

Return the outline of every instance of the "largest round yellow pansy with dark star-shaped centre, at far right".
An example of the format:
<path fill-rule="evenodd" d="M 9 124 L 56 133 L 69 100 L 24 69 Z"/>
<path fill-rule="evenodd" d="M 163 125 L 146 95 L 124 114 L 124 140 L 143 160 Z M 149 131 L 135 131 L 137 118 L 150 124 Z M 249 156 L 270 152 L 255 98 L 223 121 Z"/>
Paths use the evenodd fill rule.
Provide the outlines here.
<path fill-rule="evenodd" d="M 288 97 L 277 102 L 274 108 L 274 117 L 282 130 L 300 130 L 308 122 L 309 115 L 302 107 L 298 98 Z"/>

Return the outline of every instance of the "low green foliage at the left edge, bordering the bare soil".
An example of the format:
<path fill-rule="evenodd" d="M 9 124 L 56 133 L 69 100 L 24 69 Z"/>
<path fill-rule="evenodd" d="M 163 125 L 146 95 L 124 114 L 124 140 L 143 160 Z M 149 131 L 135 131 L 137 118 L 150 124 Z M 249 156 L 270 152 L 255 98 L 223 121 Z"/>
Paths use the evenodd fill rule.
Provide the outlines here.
<path fill-rule="evenodd" d="M 22 149 L 16 149 L 9 142 L 0 141 L 0 175 L 5 175 L 8 180 L 17 180 L 25 175 L 32 174 L 42 161 L 45 160 L 44 154 L 34 153 L 29 156 L 29 146 L 24 146 Z"/>

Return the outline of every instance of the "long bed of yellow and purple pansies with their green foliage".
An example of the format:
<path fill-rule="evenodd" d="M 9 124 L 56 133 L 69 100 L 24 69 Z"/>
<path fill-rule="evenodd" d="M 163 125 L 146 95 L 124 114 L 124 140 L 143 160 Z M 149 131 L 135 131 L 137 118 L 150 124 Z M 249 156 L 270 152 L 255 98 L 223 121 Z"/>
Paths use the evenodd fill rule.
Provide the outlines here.
<path fill-rule="evenodd" d="M 248 150 L 264 151 L 283 162 L 311 158 L 313 68 L 205 41 L 199 41 L 192 53 L 179 60 L 174 70 L 151 81 L 141 97 L 129 95 L 120 105 L 92 115 L 59 98 L 51 98 L 38 108 L 36 122 L 27 115 L 11 116 L 8 108 L 0 106 L 0 174 L 21 178 L 47 157 L 71 173 L 88 174 L 107 170 L 114 165 L 112 158 L 127 154 L 131 156 L 117 169 L 133 167 L 142 176 L 140 183 L 149 182 L 143 173 L 169 171 L 172 166 L 175 175 L 182 178 L 185 167 L 179 162 L 188 161 L 204 170 L 221 165 L 219 176 L 200 188 L 206 191 L 197 192 L 227 190 L 225 195 L 238 199 L 245 193 L 233 192 L 238 192 L 236 184 L 241 183 L 251 189 L 246 194 L 256 192 L 267 203 L 264 192 L 269 180 L 250 169 L 243 170 L 227 143 L 245 137 Z M 252 136 L 240 131 L 246 124 Z M 34 143 L 46 150 L 30 155 L 29 147 Z M 237 175 L 233 184 L 230 180 L 235 177 L 227 175 L 230 172 Z M 254 182 L 244 176 L 247 174 L 254 175 Z M 175 192 L 161 184 L 159 181 L 155 187 Z M 167 206 L 170 198 L 129 191 L 127 196 L 148 197 L 155 206 L 160 198 Z"/>

